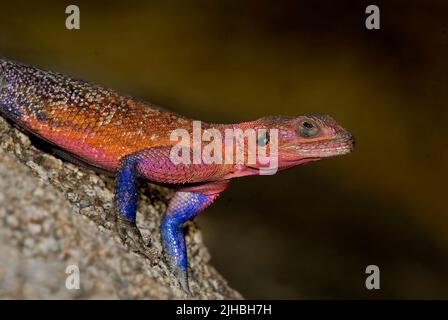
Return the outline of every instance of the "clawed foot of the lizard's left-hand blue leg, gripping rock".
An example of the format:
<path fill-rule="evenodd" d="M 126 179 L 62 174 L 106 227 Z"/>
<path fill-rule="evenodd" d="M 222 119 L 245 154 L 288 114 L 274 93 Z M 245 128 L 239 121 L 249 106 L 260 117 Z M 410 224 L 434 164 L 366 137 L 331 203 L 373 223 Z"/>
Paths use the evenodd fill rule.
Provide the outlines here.
<path fill-rule="evenodd" d="M 133 252 L 143 253 L 149 259 L 155 258 L 154 253 L 149 249 L 150 243 L 145 243 L 135 222 L 118 217 L 117 232 L 123 243 Z"/>

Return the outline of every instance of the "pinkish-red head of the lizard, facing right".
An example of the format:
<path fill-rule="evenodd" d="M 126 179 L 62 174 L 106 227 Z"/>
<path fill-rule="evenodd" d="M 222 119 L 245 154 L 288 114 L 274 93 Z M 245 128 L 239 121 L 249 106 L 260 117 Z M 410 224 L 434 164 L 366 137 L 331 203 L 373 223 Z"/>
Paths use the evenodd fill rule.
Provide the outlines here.
<path fill-rule="evenodd" d="M 265 133 L 258 134 L 257 145 L 270 149 L 270 156 L 277 157 L 279 170 L 344 155 L 350 153 L 355 145 L 353 135 L 324 114 L 268 116 L 245 123 L 244 127 L 254 128 L 258 132 L 265 129 L 261 131 Z M 276 146 L 273 145 L 273 134 L 277 136 Z M 245 167 L 247 170 L 259 170 L 265 165 L 257 161 L 255 165 Z"/>

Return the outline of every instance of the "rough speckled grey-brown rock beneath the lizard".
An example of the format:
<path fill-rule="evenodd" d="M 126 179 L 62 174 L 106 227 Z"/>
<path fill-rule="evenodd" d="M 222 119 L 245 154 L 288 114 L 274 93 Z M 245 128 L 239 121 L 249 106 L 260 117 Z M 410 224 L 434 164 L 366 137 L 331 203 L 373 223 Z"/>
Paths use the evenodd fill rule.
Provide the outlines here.
<path fill-rule="evenodd" d="M 170 190 L 142 184 L 137 223 L 150 245 L 133 248 L 117 232 L 112 178 L 37 149 L 1 117 L 0 137 L 0 298 L 185 298 L 161 255 Z M 194 224 L 187 246 L 192 298 L 241 298 L 208 264 Z M 65 286 L 69 265 L 79 290 Z"/>

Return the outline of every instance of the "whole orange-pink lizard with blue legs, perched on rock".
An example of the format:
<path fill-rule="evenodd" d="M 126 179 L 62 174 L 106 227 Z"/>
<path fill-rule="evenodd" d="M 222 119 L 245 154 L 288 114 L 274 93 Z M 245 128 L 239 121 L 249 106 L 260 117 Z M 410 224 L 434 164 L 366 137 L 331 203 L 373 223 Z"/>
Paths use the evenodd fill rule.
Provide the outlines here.
<path fill-rule="evenodd" d="M 187 292 L 185 222 L 209 206 L 230 179 L 255 175 L 261 169 L 260 163 L 246 160 L 175 164 L 170 150 L 177 142 L 170 134 L 179 128 L 191 133 L 192 120 L 110 89 L 7 59 L 0 59 L 0 112 L 56 147 L 63 157 L 114 175 L 118 220 L 137 233 L 137 179 L 174 187 L 162 218 L 161 239 L 166 260 Z M 354 147 L 353 136 L 323 114 L 202 123 L 202 128 L 219 132 L 267 129 L 257 137 L 259 146 L 268 146 L 269 129 L 277 129 L 279 170 L 343 155 Z"/>

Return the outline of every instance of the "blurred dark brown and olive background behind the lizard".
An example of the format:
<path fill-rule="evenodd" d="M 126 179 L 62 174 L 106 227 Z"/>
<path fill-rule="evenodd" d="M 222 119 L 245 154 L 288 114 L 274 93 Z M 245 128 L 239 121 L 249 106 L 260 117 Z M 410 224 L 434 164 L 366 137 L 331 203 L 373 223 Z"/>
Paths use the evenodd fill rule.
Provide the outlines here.
<path fill-rule="evenodd" d="M 234 180 L 197 219 L 213 264 L 247 298 L 448 298 L 448 5 L 419 2 L 9 1 L 0 55 L 201 120 L 332 115 L 355 152 Z"/>

